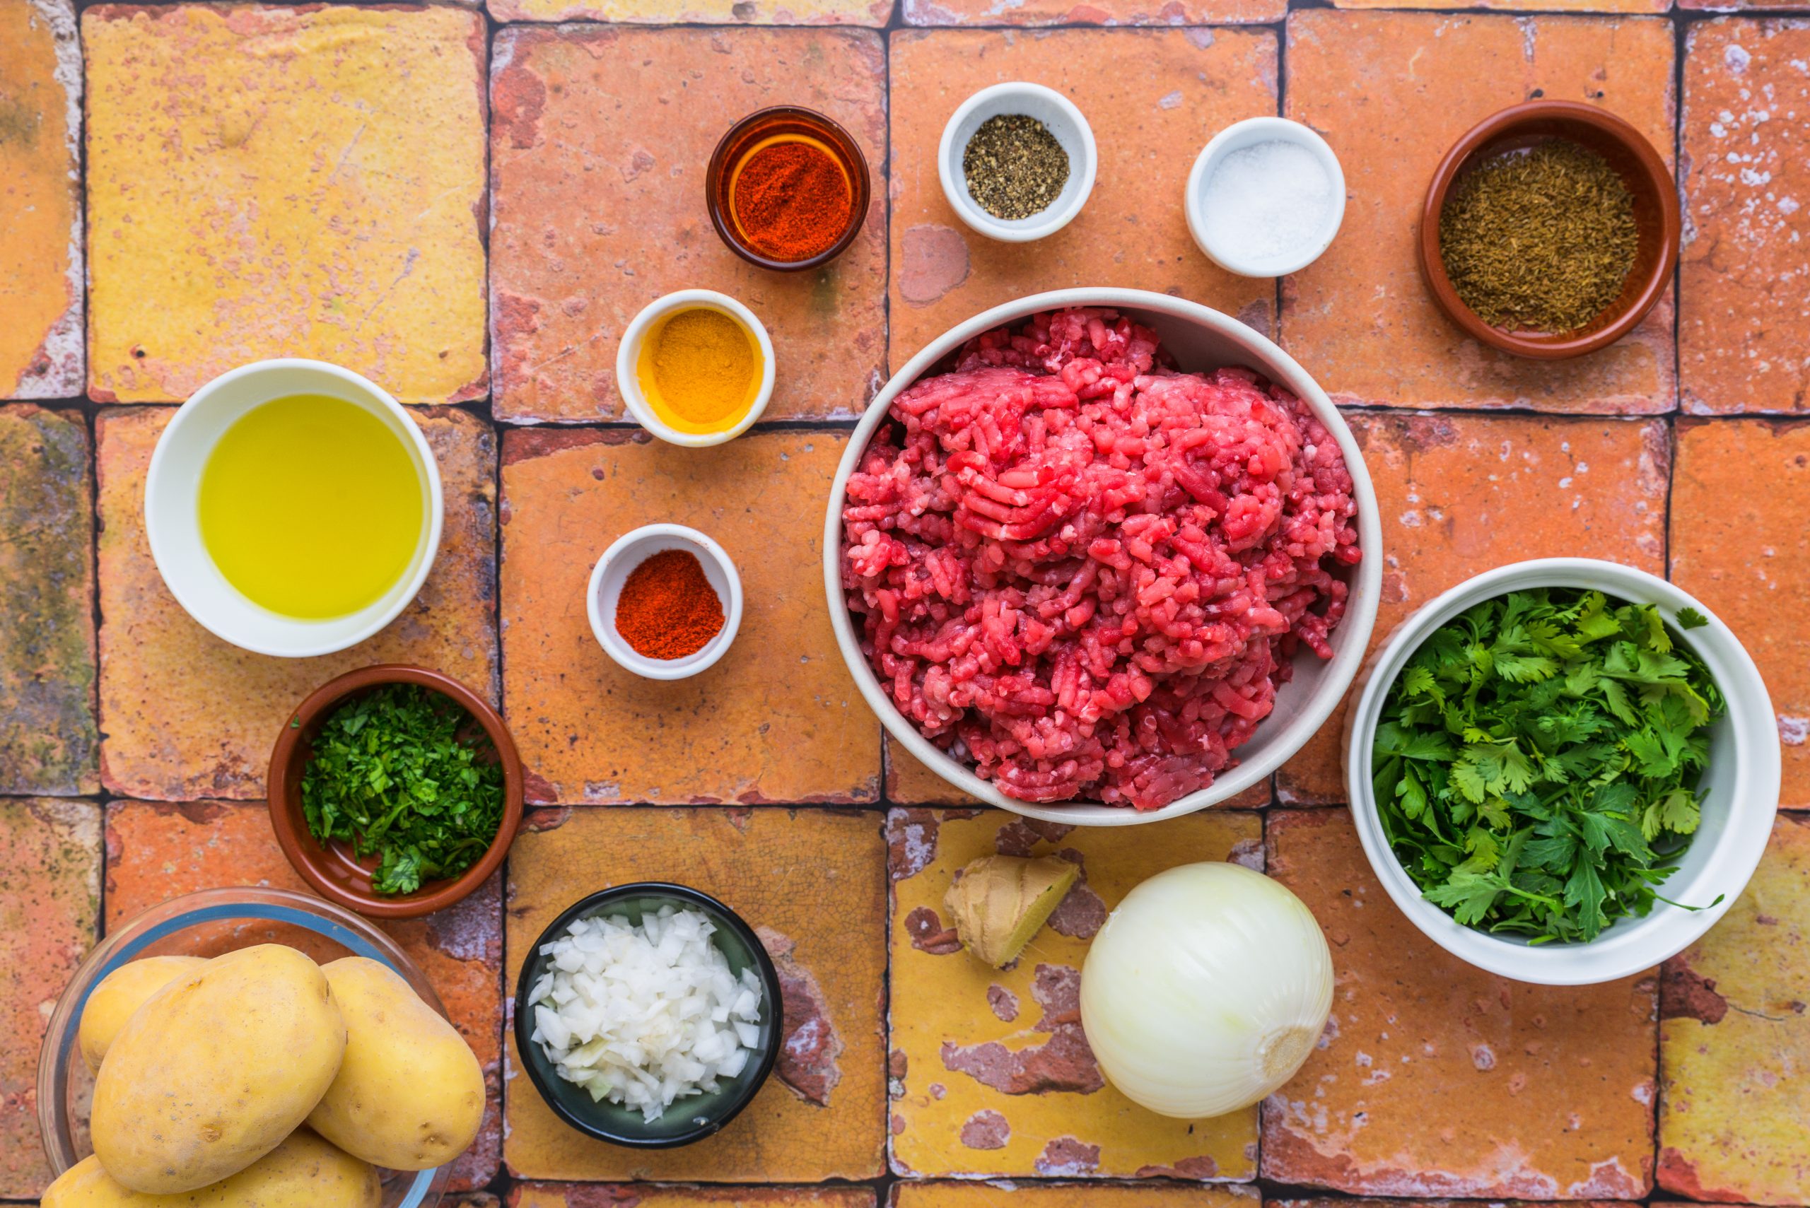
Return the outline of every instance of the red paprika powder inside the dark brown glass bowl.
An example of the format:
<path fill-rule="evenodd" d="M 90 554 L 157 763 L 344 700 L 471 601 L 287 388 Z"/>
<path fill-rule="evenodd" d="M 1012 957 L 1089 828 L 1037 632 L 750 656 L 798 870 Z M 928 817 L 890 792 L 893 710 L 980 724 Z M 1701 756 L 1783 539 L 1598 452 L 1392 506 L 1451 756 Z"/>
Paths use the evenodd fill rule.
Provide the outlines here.
<path fill-rule="evenodd" d="M 849 230 L 854 192 L 822 146 L 778 141 L 758 148 L 729 184 L 729 210 L 748 246 L 771 260 L 809 260 Z"/>

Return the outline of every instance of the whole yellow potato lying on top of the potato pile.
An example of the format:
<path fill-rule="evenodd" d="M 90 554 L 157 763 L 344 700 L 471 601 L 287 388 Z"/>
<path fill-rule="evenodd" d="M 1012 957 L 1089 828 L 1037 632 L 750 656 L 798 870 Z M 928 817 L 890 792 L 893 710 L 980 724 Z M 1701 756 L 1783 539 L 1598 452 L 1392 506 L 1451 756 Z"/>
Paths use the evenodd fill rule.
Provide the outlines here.
<path fill-rule="evenodd" d="M 147 1195 L 235 1175 L 308 1118 L 346 1056 L 346 1022 L 313 960 L 243 948 L 138 1009 L 94 1080 L 94 1154 Z"/>

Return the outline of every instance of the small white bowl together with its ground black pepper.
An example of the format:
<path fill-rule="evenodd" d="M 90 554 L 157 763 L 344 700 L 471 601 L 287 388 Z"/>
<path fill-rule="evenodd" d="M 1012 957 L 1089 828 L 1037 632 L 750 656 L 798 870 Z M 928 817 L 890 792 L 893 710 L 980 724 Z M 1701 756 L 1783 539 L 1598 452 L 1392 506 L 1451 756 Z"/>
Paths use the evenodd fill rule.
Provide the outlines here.
<path fill-rule="evenodd" d="M 1001 242 L 1053 235 L 1081 213 L 1097 170 L 1093 130 L 1041 83 L 996 83 L 943 127 L 936 172 L 950 208 Z"/>

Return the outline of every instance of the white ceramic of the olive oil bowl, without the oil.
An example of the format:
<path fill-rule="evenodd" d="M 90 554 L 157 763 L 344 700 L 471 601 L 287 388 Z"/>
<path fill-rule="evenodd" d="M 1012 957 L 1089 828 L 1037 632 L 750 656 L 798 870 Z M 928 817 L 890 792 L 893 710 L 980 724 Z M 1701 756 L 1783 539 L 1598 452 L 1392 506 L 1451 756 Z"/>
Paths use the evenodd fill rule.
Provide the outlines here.
<path fill-rule="evenodd" d="M 422 479 L 427 532 L 414 561 L 378 600 L 344 617 L 306 620 L 253 604 L 226 580 L 201 543 L 197 503 L 208 454 L 244 412 L 288 394 L 328 394 L 366 409 L 396 434 Z M 281 658 L 331 655 L 395 620 L 427 580 L 443 521 L 440 467 L 414 420 L 380 385 L 319 360 L 261 360 L 214 378 L 176 411 L 145 476 L 145 535 L 170 595 L 215 637 Z"/>

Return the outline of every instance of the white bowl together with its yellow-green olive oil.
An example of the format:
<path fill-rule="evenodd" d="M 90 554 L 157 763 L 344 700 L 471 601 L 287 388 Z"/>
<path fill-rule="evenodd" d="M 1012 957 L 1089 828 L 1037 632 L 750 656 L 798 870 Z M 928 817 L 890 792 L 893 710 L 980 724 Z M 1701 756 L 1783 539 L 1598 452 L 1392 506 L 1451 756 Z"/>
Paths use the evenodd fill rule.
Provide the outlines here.
<path fill-rule="evenodd" d="M 440 468 L 387 391 L 315 360 L 214 378 L 157 439 L 145 533 L 170 595 L 259 655 L 357 646 L 440 550 Z"/>

